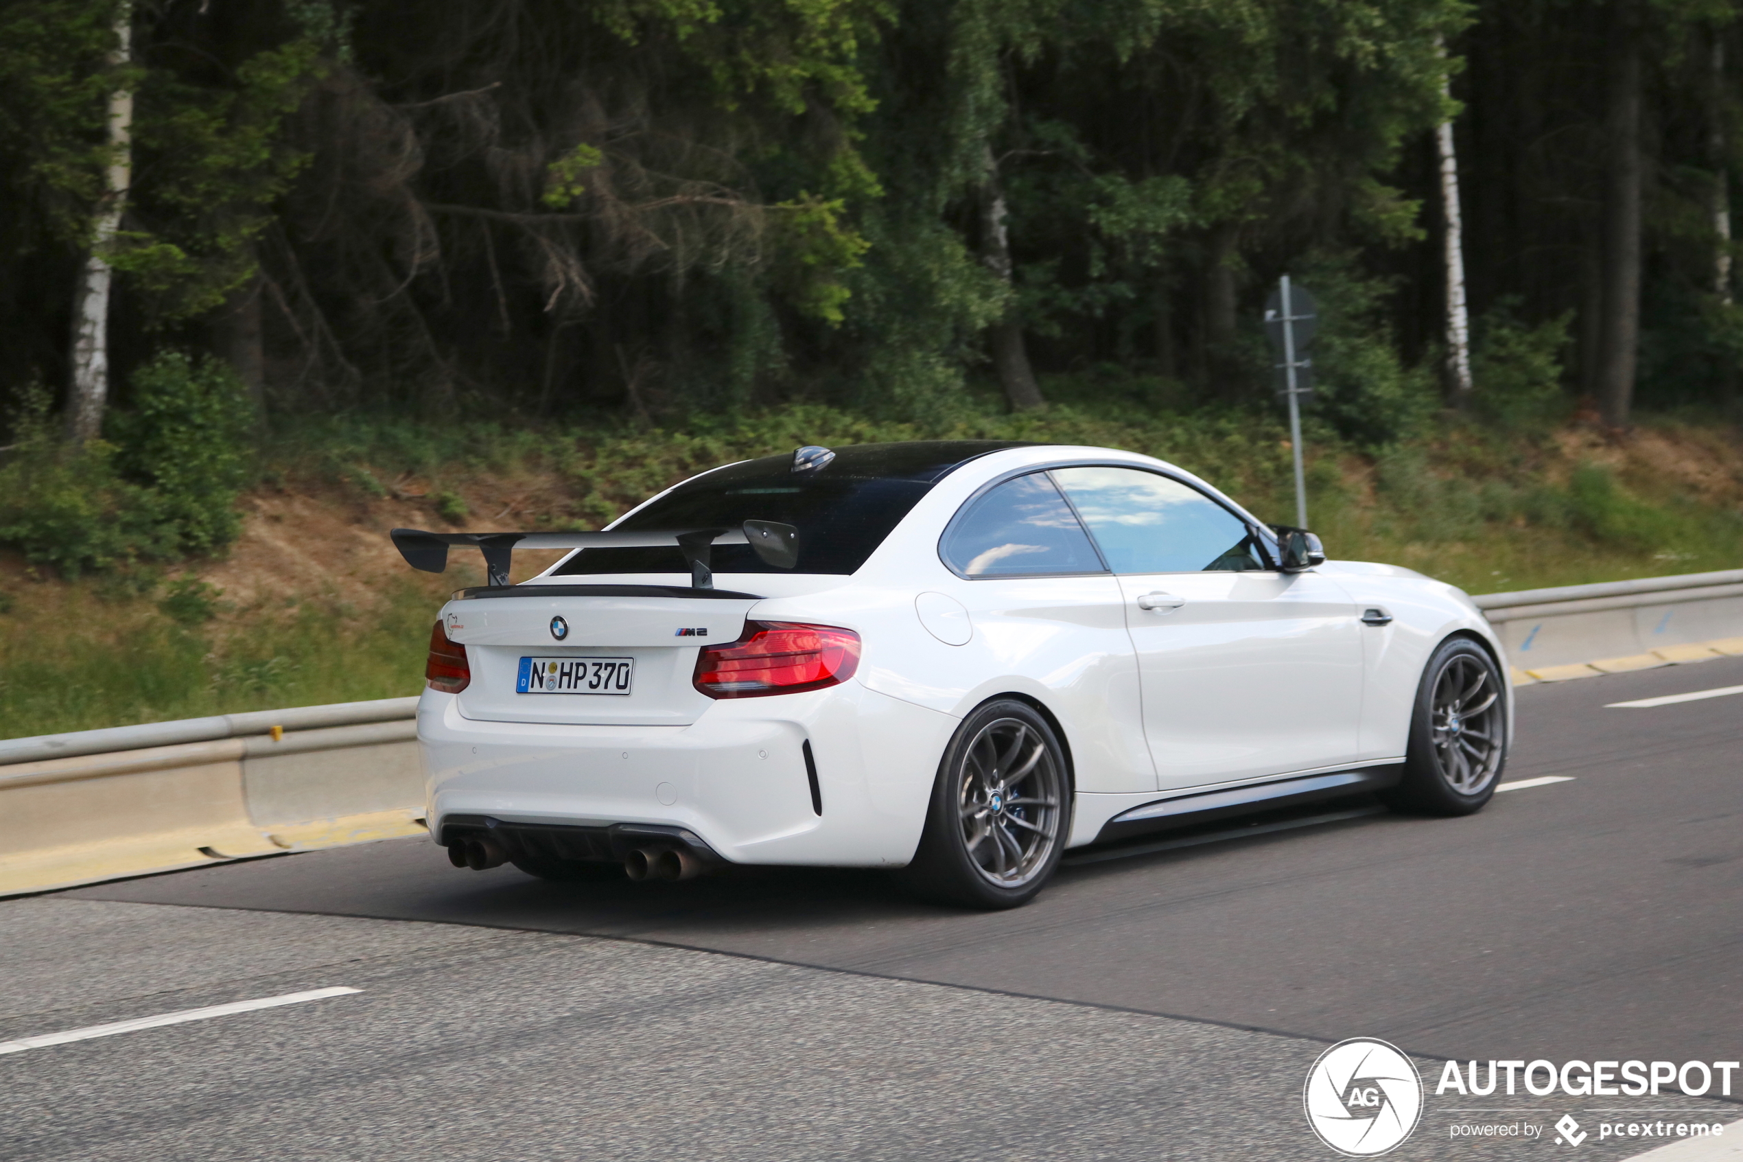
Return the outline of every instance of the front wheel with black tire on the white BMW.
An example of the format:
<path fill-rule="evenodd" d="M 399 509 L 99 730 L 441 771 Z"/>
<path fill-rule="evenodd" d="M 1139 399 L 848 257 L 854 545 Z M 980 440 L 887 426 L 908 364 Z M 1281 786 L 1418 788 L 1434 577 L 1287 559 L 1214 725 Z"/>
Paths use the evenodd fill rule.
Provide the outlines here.
<path fill-rule="evenodd" d="M 1380 800 L 1424 815 L 1469 815 L 1494 796 L 1506 763 L 1501 667 L 1469 638 L 1448 638 L 1417 685 L 1403 777 Z"/>

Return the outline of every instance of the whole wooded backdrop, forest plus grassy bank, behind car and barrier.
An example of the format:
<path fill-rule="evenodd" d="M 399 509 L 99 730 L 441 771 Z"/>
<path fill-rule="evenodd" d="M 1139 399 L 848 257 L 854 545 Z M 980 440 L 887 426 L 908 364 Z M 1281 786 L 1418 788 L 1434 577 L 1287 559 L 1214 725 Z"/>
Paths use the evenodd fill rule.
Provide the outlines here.
<path fill-rule="evenodd" d="M 275 587 L 284 497 L 593 528 L 727 456 L 1016 436 L 1283 519 L 1285 272 L 1335 554 L 1736 568 L 1740 16 L 3 0 L 0 733 L 415 690 L 431 594 Z"/>

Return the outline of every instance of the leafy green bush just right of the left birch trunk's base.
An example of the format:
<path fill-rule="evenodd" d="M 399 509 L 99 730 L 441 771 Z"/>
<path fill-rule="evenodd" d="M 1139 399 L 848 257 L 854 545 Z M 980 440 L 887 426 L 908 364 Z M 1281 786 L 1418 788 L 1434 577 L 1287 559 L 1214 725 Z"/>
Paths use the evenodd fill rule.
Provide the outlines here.
<path fill-rule="evenodd" d="M 242 528 L 235 500 L 249 481 L 253 408 L 227 364 L 162 352 L 132 376 L 132 408 L 112 422 L 124 476 L 146 488 L 152 514 L 183 552 L 223 549 Z"/>

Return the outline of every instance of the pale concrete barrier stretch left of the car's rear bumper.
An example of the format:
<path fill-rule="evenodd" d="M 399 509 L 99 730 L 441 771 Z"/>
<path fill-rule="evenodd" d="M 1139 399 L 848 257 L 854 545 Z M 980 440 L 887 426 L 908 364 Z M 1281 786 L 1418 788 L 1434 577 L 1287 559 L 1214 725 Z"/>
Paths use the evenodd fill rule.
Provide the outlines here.
<path fill-rule="evenodd" d="M 417 704 L 0 740 L 0 895 L 422 834 Z"/>

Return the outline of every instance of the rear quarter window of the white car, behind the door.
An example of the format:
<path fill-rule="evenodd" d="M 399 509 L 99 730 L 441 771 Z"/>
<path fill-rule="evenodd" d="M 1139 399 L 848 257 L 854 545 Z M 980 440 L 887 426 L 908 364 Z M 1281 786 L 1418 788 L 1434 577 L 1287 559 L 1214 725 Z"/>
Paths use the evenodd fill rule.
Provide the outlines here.
<path fill-rule="evenodd" d="M 1018 476 L 971 500 L 939 552 L 967 577 L 1107 571 L 1046 472 Z"/>

